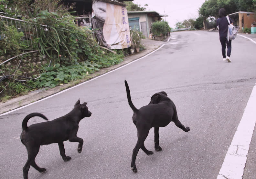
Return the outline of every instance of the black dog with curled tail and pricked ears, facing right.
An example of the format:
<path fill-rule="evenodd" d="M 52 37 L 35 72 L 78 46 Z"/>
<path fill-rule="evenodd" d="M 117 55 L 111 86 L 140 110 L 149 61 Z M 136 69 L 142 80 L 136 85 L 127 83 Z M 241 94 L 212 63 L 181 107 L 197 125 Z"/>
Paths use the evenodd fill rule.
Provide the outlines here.
<path fill-rule="evenodd" d="M 69 161 L 71 157 L 66 156 L 63 141 L 79 142 L 78 152 L 81 153 L 83 147 L 83 139 L 77 137 L 78 124 L 84 117 L 90 117 L 91 112 L 86 106 L 87 103 L 80 104 L 78 100 L 74 109 L 68 114 L 48 122 L 32 124 L 27 127 L 27 121 L 34 116 L 39 116 L 48 120 L 43 114 L 31 113 L 28 114 L 22 122 L 22 133 L 20 140 L 27 148 L 28 159 L 23 167 L 23 177 L 27 179 L 27 174 L 30 165 L 39 172 L 45 172 L 45 168 L 40 168 L 35 163 L 35 158 L 39 152 L 40 145 L 52 143 L 59 144 L 59 151 L 64 161 Z"/>

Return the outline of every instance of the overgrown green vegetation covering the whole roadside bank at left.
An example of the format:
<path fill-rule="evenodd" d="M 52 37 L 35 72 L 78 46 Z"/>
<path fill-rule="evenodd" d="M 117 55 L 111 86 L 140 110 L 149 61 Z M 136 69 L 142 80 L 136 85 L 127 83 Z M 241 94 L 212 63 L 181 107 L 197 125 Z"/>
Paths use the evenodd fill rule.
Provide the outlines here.
<path fill-rule="evenodd" d="M 0 101 L 41 87 L 55 87 L 80 80 L 101 68 L 123 61 L 122 50 L 115 50 L 117 53 L 114 54 L 101 48 L 93 38 L 92 30 L 75 25 L 74 18 L 63 13 L 63 9 L 56 10 L 58 13 L 49 12 L 52 6 L 47 2 L 50 3 L 50 0 L 0 1 L 0 9 L 4 8 L 8 16 L 13 16 L 13 12 L 9 13 L 6 5 L 8 7 L 13 3 L 12 7 L 18 7 L 25 3 L 22 5 L 25 7 L 28 3 L 27 8 L 16 10 L 23 15 L 28 13 L 29 16 L 23 17 L 28 22 L 27 30 L 33 32 L 37 29 L 38 34 L 30 33 L 28 40 L 29 43 L 32 41 L 32 48 L 28 47 L 24 43 L 26 40 L 20 41 L 21 37 L 25 38 L 22 32 L 0 20 L 0 63 L 15 55 L 38 50 L 0 65 Z M 44 11 L 39 12 L 40 3 Z"/>

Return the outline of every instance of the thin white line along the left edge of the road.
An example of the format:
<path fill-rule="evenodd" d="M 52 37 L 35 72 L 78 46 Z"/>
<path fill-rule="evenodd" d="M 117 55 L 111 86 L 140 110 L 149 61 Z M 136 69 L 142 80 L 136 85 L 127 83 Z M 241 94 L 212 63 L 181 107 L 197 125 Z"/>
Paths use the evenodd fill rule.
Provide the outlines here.
<path fill-rule="evenodd" d="M 46 98 L 43 98 L 43 99 L 41 99 L 41 100 L 38 100 L 38 101 L 36 101 L 36 102 L 27 104 L 27 105 L 25 105 L 25 106 L 16 108 L 16 109 L 14 109 L 14 110 L 8 111 L 8 112 L 3 113 L 3 114 L 0 114 L 0 116 L 6 115 L 6 114 L 9 114 L 9 113 L 12 113 L 12 112 L 14 112 L 14 111 L 17 111 L 17 110 L 19 110 L 19 109 L 25 108 L 25 107 L 30 106 L 30 105 L 32 105 L 32 104 L 39 103 L 39 102 L 44 101 L 44 100 L 46 100 L 46 99 L 48 99 L 48 98 L 51 98 L 51 97 L 53 97 L 53 96 L 56 96 L 56 95 L 61 94 L 61 93 L 64 93 L 64 92 L 66 92 L 66 91 L 68 91 L 68 90 L 70 90 L 70 89 L 73 89 L 73 88 L 76 88 L 76 87 L 78 87 L 78 86 L 80 86 L 80 85 L 83 85 L 83 84 L 85 84 L 85 83 L 88 83 L 88 82 L 90 82 L 90 81 L 92 81 L 92 80 L 96 80 L 97 78 L 100 78 L 101 76 L 105 76 L 105 75 L 107 75 L 107 74 L 109 74 L 109 73 L 112 73 L 112 72 L 114 72 L 114 71 L 116 71 L 116 70 L 119 70 L 119 69 L 121 69 L 121 68 L 123 68 L 123 67 L 125 67 L 125 66 L 127 66 L 127 65 L 130 65 L 130 64 L 132 64 L 132 63 L 134 63 L 134 62 L 137 62 L 138 60 L 141 60 L 141 59 L 145 58 L 145 57 L 148 56 L 148 55 L 153 54 L 154 52 L 156 52 L 157 50 L 159 50 L 159 49 L 162 48 L 163 46 L 165 46 L 165 44 L 161 45 L 160 47 L 158 47 L 158 48 L 155 49 L 154 51 L 150 52 L 149 54 L 147 54 L 147 55 L 145 55 L 145 56 L 143 56 L 143 57 L 140 57 L 140 58 L 138 58 L 137 60 L 133 60 L 132 62 L 130 62 L 130 63 L 128 63 L 128 64 L 125 64 L 125 65 L 123 65 L 123 66 L 120 66 L 120 67 L 118 67 L 118 68 L 116 68 L 116 69 L 114 69 L 114 70 L 112 70 L 112 71 L 109 71 L 109 72 L 107 72 L 107 73 L 105 73 L 105 74 L 102 74 L 102 75 L 100 75 L 100 76 L 97 76 L 97 77 L 95 77 L 95 78 L 92 78 L 91 80 L 85 81 L 85 82 L 80 83 L 80 84 L 78 84 L 78 85 L 76 85 L 76 86 L 70 87 L 70 88 L 65 89 L 65 90 L 63 90 L 63 91 L 60 91 L 59 93 L 50 95 L 50 96 L 48 96 L 48 97 L 46 97 Z"/>

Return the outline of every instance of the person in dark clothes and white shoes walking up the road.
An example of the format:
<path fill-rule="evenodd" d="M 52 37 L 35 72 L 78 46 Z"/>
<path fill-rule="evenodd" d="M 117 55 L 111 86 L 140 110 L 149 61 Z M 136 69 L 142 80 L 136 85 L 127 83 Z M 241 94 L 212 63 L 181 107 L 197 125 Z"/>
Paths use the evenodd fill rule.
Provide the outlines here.
<path fill-rule="evenodd" d="M 230 24 L 233 24 L 232 20 L 228 16 Z M 219 9 L 219 18 L 217 19 L 217 27 L 219 29 L 219 41 L 221 44 L 221 52 L 223 56 L 223 61 L 230 61 L 231 54 L 231 40 L 228 41 L 228 19 L 226 10 L 224 8 Z M 227 44 L 227 56 L 226 56 L 226 44 Z"/>

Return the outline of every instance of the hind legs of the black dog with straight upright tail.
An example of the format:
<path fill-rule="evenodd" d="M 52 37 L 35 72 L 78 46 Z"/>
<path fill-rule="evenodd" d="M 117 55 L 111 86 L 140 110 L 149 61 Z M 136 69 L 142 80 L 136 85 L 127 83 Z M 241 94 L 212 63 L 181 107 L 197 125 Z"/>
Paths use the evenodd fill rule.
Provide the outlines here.
<path fill-rule="evenodd" d="M 134 149 L 133 149 L 133 155 L 132 155 L 132 163 L 131 163 L 131 168 L 133 170 L 134 173 L 137 172 L 137 168 L 136 168 L 136 164 L 135 164 L 135 161 L 136 161 L 136 156 L 140 150 L 140 148 L 143 150 L 147 150 L 144 146 L 144 141 L 146 140 L 147 136 L 148 136 L 148 132 L 149 132 L 149 129 L 148 131 L 145 131 L 145 130 L 142 130 L 140 132 L 139 129 L 137 129 L 137 135 L 138 135 L 138 141 L 137 141 L 137 144 L 135 145 Z M 148 150 L 147 150 L 148 151 Z M 144 151 L 145 152 L 145 151 Z M 152 151 L 148 151 L 148 152 L 152 152 Z M 146 153 L 146 152 L 145 152 Z M 147 154 L 147 153 L 146 153 Z M 153 154 L 153 152 L 152 152 Z"/>

